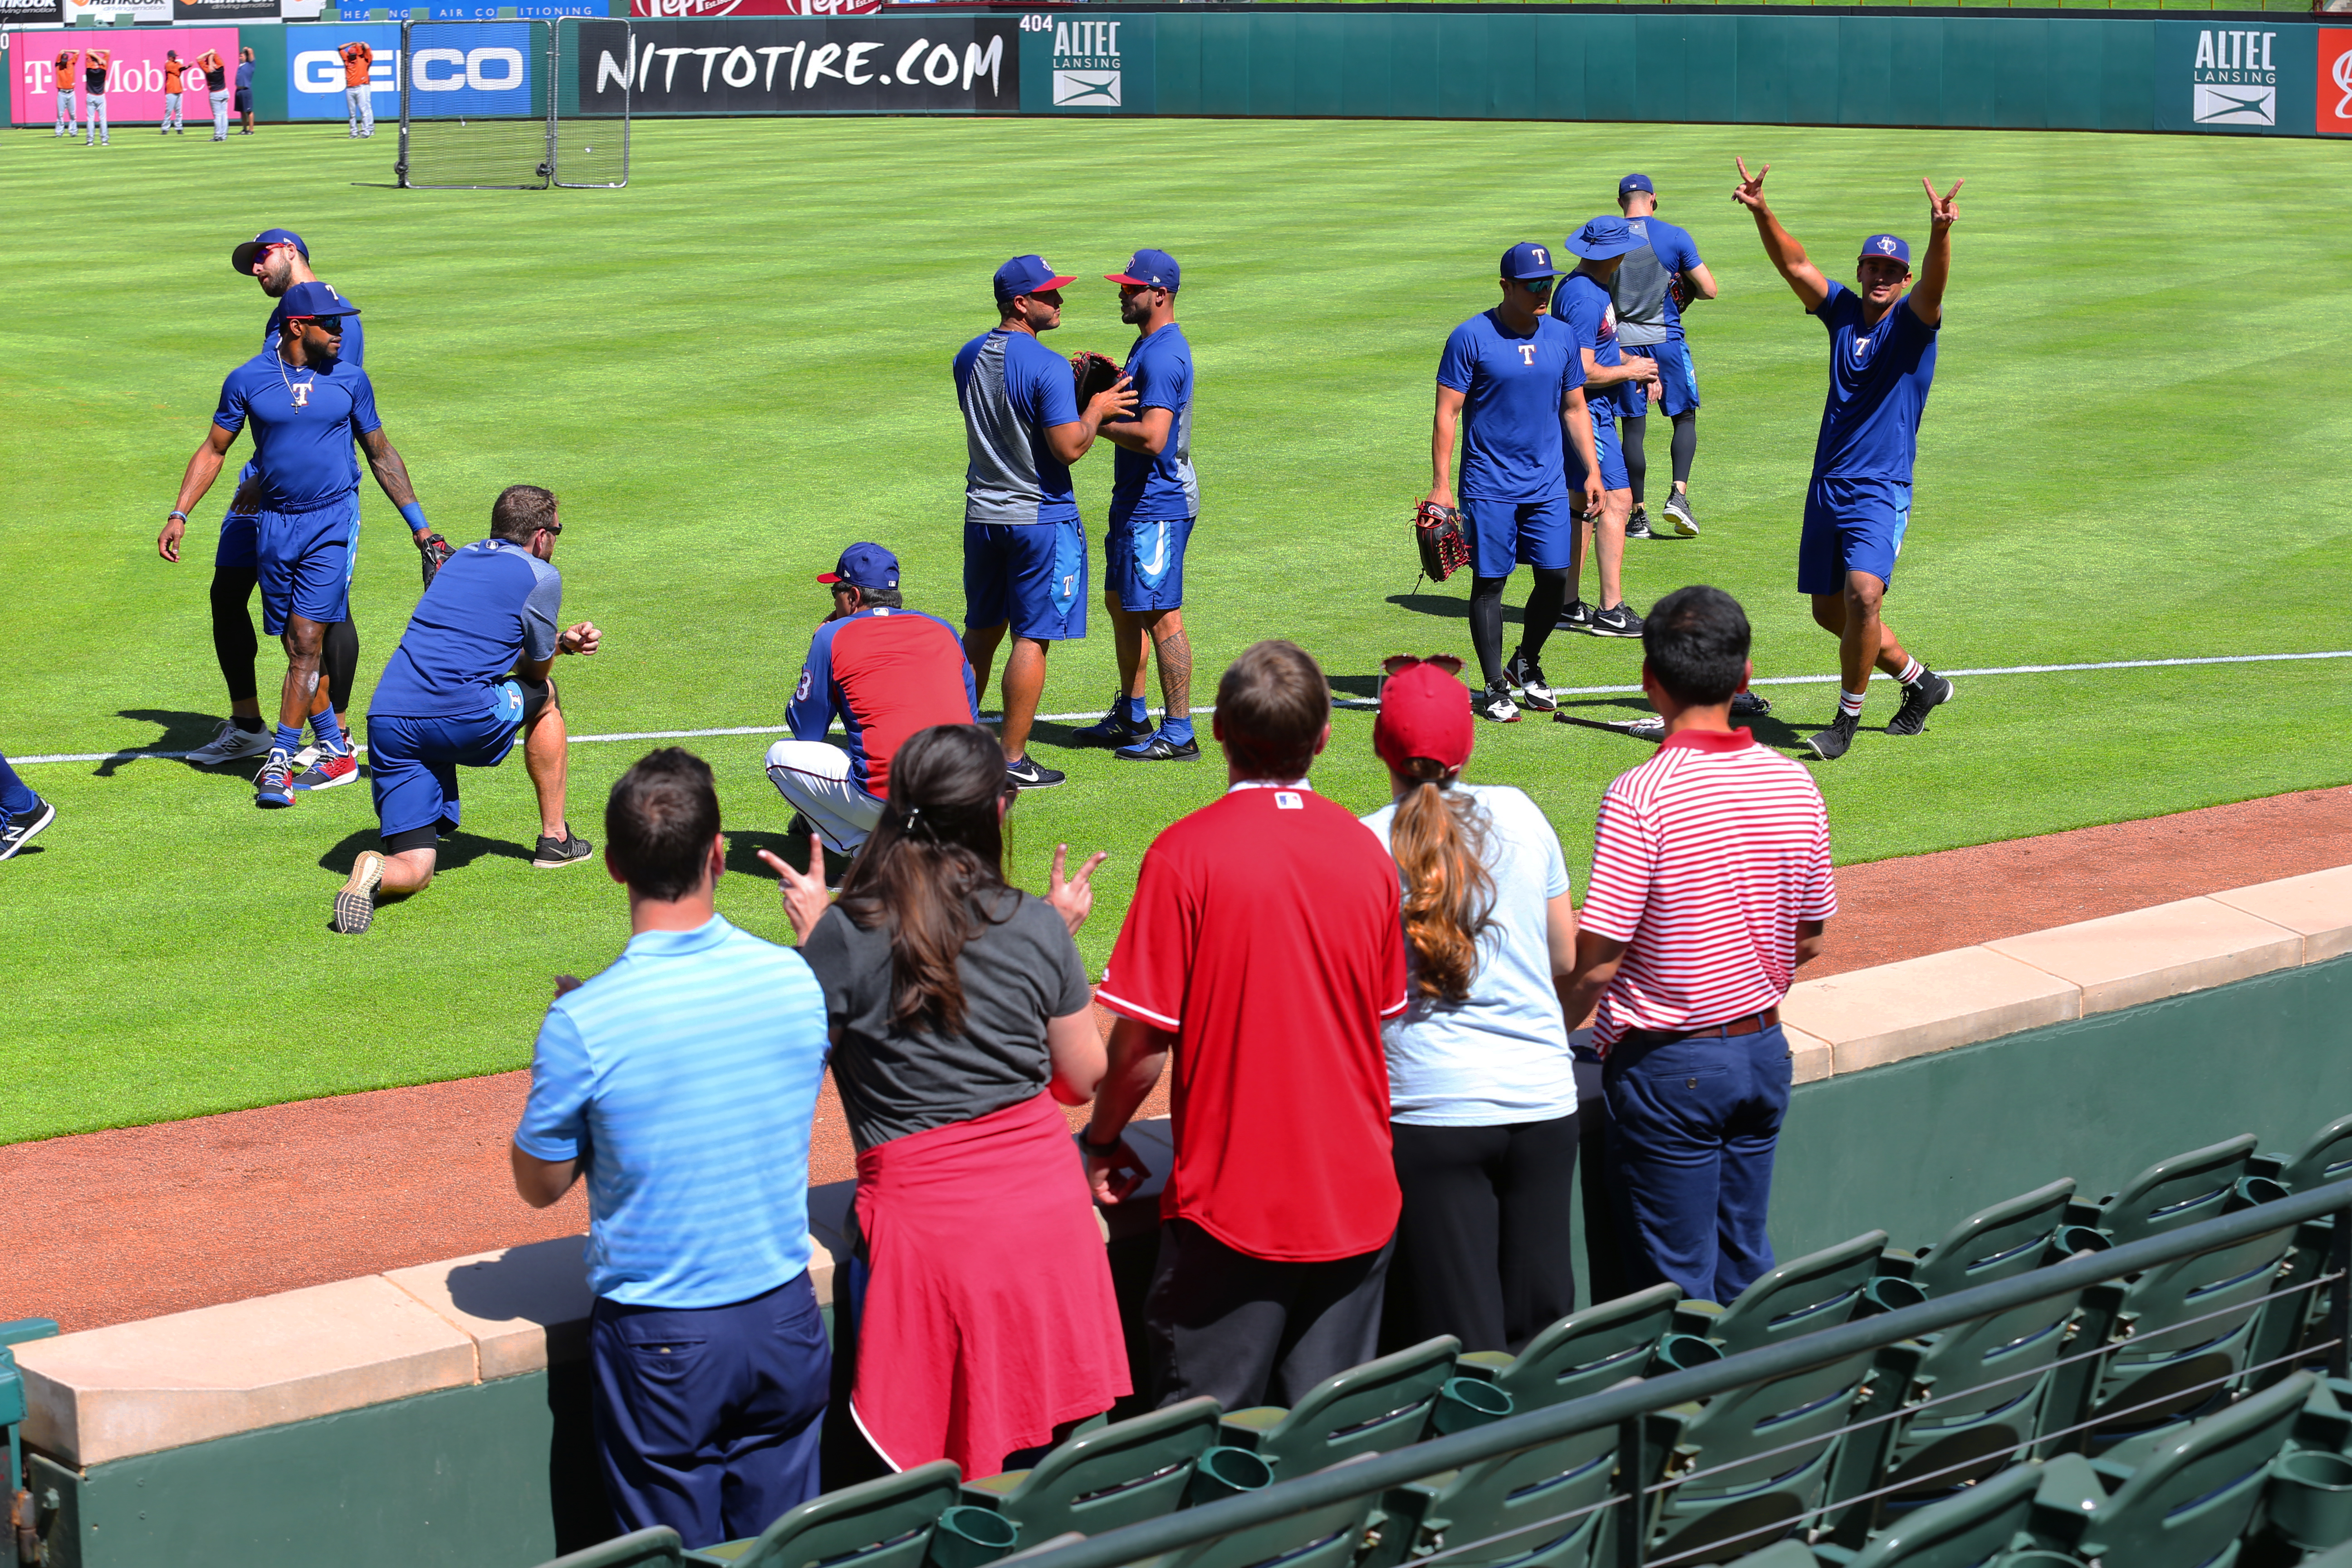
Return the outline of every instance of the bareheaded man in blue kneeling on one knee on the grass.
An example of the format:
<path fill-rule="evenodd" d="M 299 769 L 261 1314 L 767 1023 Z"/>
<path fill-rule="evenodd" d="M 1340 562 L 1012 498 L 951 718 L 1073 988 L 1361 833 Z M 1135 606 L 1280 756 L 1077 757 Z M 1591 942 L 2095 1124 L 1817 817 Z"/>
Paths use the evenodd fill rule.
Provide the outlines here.
<path fill-rule="evenodd" d="M 400 646 L 367 698 L 367 780 L 383 849 L 367 849 L 334 896 L 334 929 L 358 936 L 383 893 L 433 884 L 440 837 L 459 827 L 459 769 L 494 769 L 522 741 L 539 797 L 532 865 L 557 870 L 593 853 L 564 820 L 564 712 L 548 668 L 595 654 L 588 621 L 562 625 L 564 581 L 555 491 L 508 484 L 489 508 L 489 538 L 454 552 L 416 602 Z"/>

